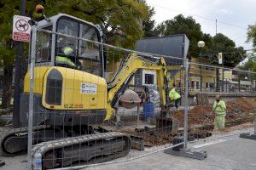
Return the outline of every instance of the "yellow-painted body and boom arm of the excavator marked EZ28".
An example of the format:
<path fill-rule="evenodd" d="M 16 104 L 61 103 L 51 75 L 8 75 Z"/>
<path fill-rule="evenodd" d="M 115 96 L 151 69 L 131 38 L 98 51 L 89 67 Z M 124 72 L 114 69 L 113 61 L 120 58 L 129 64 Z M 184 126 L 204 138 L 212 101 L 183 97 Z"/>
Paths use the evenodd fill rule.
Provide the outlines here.
<path fill-rule="evenodd" d="M 49 72 L 56 70 L 61 73 L 61 103 L 60 105 L 50 105 L 46 102 L 46 88 L 49 77 Z M 166 105 L 166 62 L 165 59 L 160 58 L 160 63 L 148 62 L 147 59 L 137 56 L 137 54 L 130 54 L 125 60 L 125 66 L 113 78 L 113 88 L 107 88 L 107 82 L 104 78 L 92 75 L 85 71 L 78 71 L 75 69 L 60 67 L 60 66 L 36 66 L 35 67 L 35 81 L 34 93 L 42 95 L 42 105 L 49 110 L 61 111 L 90 111 L 90 110 L 106 110 L 107 115 L 105 120 L 108 120 L 113 115 L 113 101 L 117 101 L 116 94 L 120 93 L 124 83 L 134 74 L 138 69 L 149 69 L 157 71 L 157 84 L 160 90 L 160 99 L 163 105 Z M 83 84 L 93 85 L 94 91 L 82 92 Z M 29 93 L 29 74 L 26 73 L 24 82 L 24 93 Z M 51 94 L 55 95 L 55 94 Z"/>

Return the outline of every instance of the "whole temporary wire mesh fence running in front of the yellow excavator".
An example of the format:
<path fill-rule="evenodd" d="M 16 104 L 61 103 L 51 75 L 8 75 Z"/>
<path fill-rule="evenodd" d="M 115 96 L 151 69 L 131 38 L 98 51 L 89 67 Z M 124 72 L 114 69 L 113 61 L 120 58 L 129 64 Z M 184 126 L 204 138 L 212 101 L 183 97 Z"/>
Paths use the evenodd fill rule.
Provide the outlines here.
<path fill-rule="evenodd" d="M 73 37 L 73 31 L 32 28 L 30 69 L 20 99 L 29 168 L 75 169 L 162 150 L 204 159 L 207 153 L 190 151 L 188 143 L 215 135 L 216 94 L 226 104 L 225 127 L 251 126 L 244 123 L 253 121 L 255 98 L 228 99 L 230 92 L 255 95 L 255 72 L 118 48 L 98 42 L 93 30 L 82 31 L 82 37 Z M 195 65 L 207 69 L 198 76 L 191 72 Z M 237 86 L 232 77 L 220 79 L 221 69 L 247 80 Z M 169 98 L 172 88 L 181 95 L 176 102 Z"/>

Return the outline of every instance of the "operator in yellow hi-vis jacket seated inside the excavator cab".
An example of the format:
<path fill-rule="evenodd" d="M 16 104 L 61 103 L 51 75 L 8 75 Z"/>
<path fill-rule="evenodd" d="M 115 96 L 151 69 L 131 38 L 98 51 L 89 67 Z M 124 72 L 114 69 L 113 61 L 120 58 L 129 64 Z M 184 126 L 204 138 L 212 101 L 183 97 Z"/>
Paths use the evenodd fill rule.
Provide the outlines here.
<path fill-rule="evenodd" d="M 75 56 L 73 48 L 69 46 L 61 48 L 61 53 L 58 53 L 55 58 L 55 65 L 76 68 L 78 70 L 80 70 L 82 66 L 79 59 Z"/>

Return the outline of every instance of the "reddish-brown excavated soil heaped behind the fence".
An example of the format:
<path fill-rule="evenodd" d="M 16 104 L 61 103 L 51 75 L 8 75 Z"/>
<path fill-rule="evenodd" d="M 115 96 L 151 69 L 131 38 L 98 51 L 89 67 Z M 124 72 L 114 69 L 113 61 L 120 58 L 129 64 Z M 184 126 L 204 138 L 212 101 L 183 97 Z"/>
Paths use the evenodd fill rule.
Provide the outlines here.
<path fill-rule="evenodd" d="M 241 126 L 243 123 L 253 122 L 253 113 L 256 113 L 256 99 L 240 98 L 226 103 L 227 115 L 225 126 Z M 214 114 L 211 105 L 196 105 L 189 111 L 189 139 L 201 139 L 212 135 Z M 173 116 L 180 122 L 179 127 L 183 127 L 183 111 L 176 111 Z M 124 132 L 124 131 L 123 131 Z M 177 133 L 168 130 L 151 129 L 145 132 L 125 131 L 143 138 L 144 145 L 154 146 L 160 144 L 170 144 Z"/>

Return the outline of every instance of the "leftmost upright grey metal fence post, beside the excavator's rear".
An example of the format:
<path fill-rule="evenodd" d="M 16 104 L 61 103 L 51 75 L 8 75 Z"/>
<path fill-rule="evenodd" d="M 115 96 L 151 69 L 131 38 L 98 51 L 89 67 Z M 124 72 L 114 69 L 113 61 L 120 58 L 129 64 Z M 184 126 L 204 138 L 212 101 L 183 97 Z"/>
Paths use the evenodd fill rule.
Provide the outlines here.
<path fill-rule="evenodd" d="M 27 136 L 27 169 L 32 169 L 32 126 L 33 126 L 33 98 L 34 98 L 34 67 L 36 59 L 37 28 L 32 26 L 31 60 L 30 60 L 30 91 L 28 112 L 28 136 Z"/>

